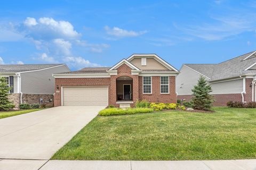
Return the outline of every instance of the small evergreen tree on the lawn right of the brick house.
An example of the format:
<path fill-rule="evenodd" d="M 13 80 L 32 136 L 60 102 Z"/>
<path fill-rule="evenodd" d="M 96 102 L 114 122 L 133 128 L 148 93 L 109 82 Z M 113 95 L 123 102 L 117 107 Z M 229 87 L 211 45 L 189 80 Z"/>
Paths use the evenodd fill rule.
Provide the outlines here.
<path fill-rule="evenodd" d="M 200 110 L 209 110 L 214 101 L 213 96 L 210 95 L 212 87 L 207 83 L 204 77 L 200 77 L 196 86 L 192 89 L 193 92 L 193 108 Z"/>

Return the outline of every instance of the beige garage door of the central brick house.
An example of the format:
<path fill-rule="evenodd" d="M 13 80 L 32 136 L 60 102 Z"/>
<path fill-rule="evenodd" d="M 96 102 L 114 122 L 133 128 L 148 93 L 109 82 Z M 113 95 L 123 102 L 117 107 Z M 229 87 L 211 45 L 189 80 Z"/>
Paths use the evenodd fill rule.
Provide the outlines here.
<path fill-rule="evenodd" d="M 63 106 L 107 106 L 108 87 L 63 87 Z"/>

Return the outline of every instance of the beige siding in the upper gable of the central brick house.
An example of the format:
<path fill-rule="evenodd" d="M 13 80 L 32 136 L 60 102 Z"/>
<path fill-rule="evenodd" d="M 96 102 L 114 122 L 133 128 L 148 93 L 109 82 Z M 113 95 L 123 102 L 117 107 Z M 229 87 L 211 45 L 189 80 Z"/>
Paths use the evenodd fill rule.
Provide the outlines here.
<path fill-rule="evenodd" d="M 140 70 L 169 70 L 154 58 L 147 58 L 147 65 L 141 65 L 141 58 L 134 58 L 130 63 L 137 66 Z"/>

